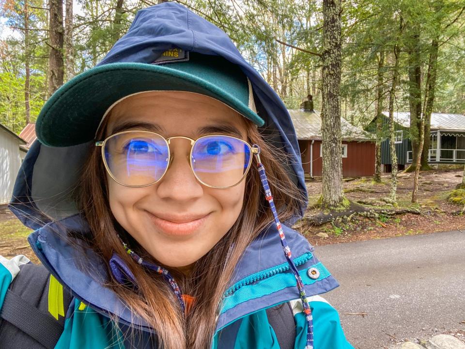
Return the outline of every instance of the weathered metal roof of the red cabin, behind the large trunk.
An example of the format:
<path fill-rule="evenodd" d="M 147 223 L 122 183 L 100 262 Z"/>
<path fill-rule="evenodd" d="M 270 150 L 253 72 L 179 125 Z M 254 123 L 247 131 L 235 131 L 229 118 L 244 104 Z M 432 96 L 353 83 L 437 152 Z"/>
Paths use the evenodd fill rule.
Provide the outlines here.
<path fill-rule="evenodd" d="M 321 140 L 321 117 L 319 111 L 304 111 L 303 109 L 288 110 L 294 124 L 297 139 Z M 341 118 L 341 137 L 344 141 L 370 141 L 373 136 L 359 127 Z"/>

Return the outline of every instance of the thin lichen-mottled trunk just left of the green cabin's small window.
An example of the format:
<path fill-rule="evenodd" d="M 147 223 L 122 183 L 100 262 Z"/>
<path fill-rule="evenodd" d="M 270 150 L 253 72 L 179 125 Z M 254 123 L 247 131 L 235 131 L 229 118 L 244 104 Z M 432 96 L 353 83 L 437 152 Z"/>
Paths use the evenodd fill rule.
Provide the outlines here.
<path fill-rule="evenodd" d="M 402 26 L 402 24 L 401 24 Z M 391 189 L 390 199 L 397 201 L 397 154 L 396 133 L 394 131 L 394 98 L 396 96 L 397 79 L 399 76 L 399 48 L 394 45 L 394 71 L 392 73 L 392 85 L 389 90 L 389 148 L 391 152 Z"/>

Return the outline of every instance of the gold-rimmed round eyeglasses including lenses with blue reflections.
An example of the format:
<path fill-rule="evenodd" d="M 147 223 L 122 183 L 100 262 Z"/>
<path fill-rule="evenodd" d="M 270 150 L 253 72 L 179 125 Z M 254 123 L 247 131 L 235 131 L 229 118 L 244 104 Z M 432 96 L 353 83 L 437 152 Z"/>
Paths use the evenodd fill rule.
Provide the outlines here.
<path fill-rule="evenodd" d="M 173 159 L 170 143 L 176 138 L 190 141 L 192 172 L 199 182 L 210 188 L 238 185 L 250 169 L 252 154 L 257 157 L 260 154 L 256 145 L 216 134 L 197 140 L 184 136 L 165 139 L 151 131 L 128 130 L 112 134 L 95 145 L 102 147 L 105 168 L 117 183 L 126 187 L 147 187 L 161 180 L 168 171 Z"/>

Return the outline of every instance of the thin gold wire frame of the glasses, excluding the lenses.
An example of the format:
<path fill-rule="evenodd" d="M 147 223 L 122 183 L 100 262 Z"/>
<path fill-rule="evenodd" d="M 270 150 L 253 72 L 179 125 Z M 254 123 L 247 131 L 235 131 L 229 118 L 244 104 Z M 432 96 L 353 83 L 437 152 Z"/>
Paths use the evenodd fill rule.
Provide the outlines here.
<path fill-rule="evenodd" d="M 106 146 L 109 143 L 109 141 L 112 140 L 114 137 L 118 137 L 118 136 L 121 136 L 121 135 L 124 135 L 124 134 L 129 134 L 130 135 L 130 134 L 140 134 L 140 133 L 147 134 L 149 139 L 150 139 L 150 137 L 152 137 L 152 139 L 154 139 L 155 137 L 158 137 L 159 140 L 163 140 L 164 144 L 166 145 L 166 150 L 167 150 L 167 159 L 166 160 L 167 160 L 168 164 L 167 164 L 165 170 L 163 171 L 163 174 L 161 174 L 158 179 L 152 181 L 151 183 L 143 184 L 143 185 L 125 184 L 125 183 L 122 183 L 120 180 L 118 180 L 116 178 L 116 176 L 110 170 L 110 167 L 109 167 L 109 164 L 108 164 L 108 161 L 107 161 L 107 156 L 105 154 Z M 203 181 L 199 177 L 199 175 L 196 173 L 196 171 L 194 170 L 193 163 L 195 163 L 195 159 L 193 158 L 193 151 L 194 151 L 194 148 L 195 148 L 195 144 L 197 142 L 201 141 L 201 140 L 204 140 L 205 138 L 210 138 L 210 137 L 215 137 L 215 136 L 217 136 L 217 137 L 225 137 L 226 139 L 232 139 L 232 140 L 238 141 L 238 142 L 244 144 L 249 150 L 250 156 L 249 156 L 249 159 L 248 159 L 247 168 L 245 169 L 242 177 L 237 181 L 237 183 L 234 183 L 233 185 L 230 185 L 230 186 L 213 186 L 213 185 L 210 185 L 210 184 L 206 183 L 205 181 Z M 250 170 L 253 155 L 255 155 L 257 157 L 258 162 L 260 162 L 260 148 L 258 147 L 258 145 L 255 145 L 255 144 L 250 145 L 249 143 L 247 143 L 246 141 L 244 141 L 244 140 L 242 140 L 240 138 L 233 137 L 233 136 L 228 136 L 228 135 L 222 135 L 222 134 L 205 135 L 205 136 L 199 137 L 196 140 L 194 140 L 192 138 L 185 137 L 185 136 L 173 136 L 173 137 L 170 137 L 170 138 L 164 138 L 163 136 L 161 136 L 158 133 L 155 133 L 155 132 L 152 132 L 152 131 L 146 131 L 146 130 L 127 130 L 127 131 L 114 133 L 114 134 L 110 135 L 109 137 L 107 137 L 103 141 L 95 142 L 95 146 L 101 146 L 102 147 L 102 152 L 101 153 L 102 153 L 102 160 L 104 162 L 105 169 L 107 170 L 107 173 L 110 175 L 110 177 L 116 183 L 118 183 L 118 184 L 120 184 L 120 185 L 122 185 L 124 187 L 140 188 L 140 187 L 148 187 L 148 186 L 151 186 L 151 185 L 159 182 L 165 176 L 165 174 L 168 172 L 168 169 L 170 168 L 170 165 L 171 165 L 171 162 L 172 162 L 172 159 L 173 159 L 173 157 L 171 156 L 170 143 L 171 143 L 171 140 L 176 139 L 176 138 L 186 139 L 186 140 L 188 140 L 190 142 L 191 148 L 190 148 L 190 153 L 189 153 L 189 165 L 190 165 L 190 168 L 192 170 L 192 173 L 194 174 L 195 178 L 200 183 L 202 183 L 204 186 L 209 187 L 209 188 L 227 189 L 227 188 L 235 187 L 236 185 L 238 185 L 239 183 L 241 183 L 244 180 L 244 178 L 246 177 L 248 171 Z M 218 173 L 218 175 L 221 175 L 221 173 Z"/>

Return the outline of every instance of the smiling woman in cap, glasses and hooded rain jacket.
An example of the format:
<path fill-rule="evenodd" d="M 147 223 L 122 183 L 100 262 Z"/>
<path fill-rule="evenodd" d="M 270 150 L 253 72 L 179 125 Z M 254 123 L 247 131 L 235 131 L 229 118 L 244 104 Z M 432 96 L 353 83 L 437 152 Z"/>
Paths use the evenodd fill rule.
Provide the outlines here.
<path fill-rule="evenodd" d="M 139 11 L 36 133 L 11 208 L 73 297 L 54 348 L 352 348 L 316 296 L 337 282 L 288 227 L 306 206 L 292 122 L 217 27 Z"/>

